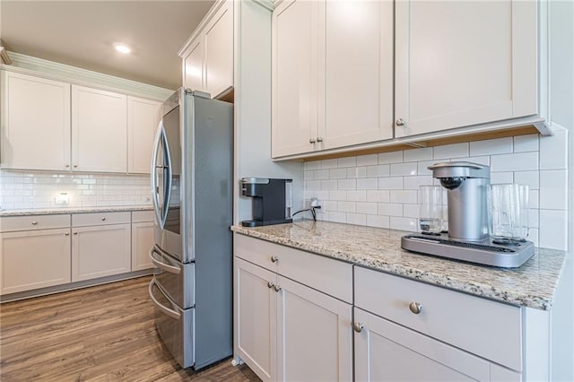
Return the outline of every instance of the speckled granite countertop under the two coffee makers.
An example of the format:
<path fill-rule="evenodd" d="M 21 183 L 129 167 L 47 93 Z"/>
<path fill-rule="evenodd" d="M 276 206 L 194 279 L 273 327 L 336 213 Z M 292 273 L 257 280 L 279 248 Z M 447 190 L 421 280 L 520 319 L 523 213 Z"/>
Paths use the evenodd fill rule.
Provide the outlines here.
<path fill-rule="evenodd" d="M 406 233 L 327 221 L 298 221 L 231 230 L 284 246 L 334 257 L 354 265 L 393 273 L 509 304 L 549 310 L 558 281 L 571 254 L 536 248 L 535 256 L 518 268 L 473 265 L 404 251 Z"/>

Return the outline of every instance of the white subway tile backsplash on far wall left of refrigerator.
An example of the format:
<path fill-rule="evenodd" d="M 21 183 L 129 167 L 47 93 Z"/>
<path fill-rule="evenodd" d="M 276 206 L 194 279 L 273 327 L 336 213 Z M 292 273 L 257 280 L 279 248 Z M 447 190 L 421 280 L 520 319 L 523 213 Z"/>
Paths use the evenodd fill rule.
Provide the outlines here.
<path fill-rule="evenodd" d="M 57 204 L 61 193 L 68 204 Z M 151 196 L 148 175 L 0 170 L 3 209 L 152 204 Z"/>

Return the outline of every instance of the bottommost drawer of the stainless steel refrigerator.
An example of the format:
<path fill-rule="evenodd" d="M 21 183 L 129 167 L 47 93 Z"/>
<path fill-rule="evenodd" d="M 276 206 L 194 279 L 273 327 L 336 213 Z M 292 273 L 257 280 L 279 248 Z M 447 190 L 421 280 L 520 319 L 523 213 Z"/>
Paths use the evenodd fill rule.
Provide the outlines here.
<path fill-rule="evenodd" d="M 182 368 L 195 363 L 194 316 L 195 308 L 181 309 L 160 288 L 155 279 L 149 287 L 150 298 L 155 306 L 155 325 L 161 340 Z"/>

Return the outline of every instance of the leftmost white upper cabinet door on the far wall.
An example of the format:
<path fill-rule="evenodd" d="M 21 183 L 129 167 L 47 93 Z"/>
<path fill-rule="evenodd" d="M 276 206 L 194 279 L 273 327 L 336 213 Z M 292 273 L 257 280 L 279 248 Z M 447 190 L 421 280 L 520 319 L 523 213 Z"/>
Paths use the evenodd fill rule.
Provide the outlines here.
<path fill-rule="evenodd" d="M 70 84 L 2 72 L 4 169 L 70 169 Z"/>

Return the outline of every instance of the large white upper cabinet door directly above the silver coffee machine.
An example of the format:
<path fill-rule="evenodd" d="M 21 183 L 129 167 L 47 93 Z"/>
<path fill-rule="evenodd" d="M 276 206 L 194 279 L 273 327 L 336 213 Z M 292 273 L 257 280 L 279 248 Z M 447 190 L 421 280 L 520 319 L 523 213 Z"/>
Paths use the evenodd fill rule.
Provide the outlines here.
<path fill-rule="evenodd" d="M 535 115 L 536 4 L 396 2 L 396 137 Z"/>

